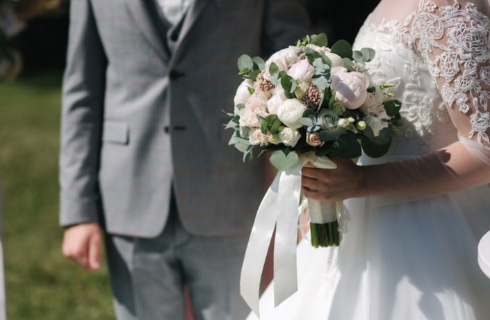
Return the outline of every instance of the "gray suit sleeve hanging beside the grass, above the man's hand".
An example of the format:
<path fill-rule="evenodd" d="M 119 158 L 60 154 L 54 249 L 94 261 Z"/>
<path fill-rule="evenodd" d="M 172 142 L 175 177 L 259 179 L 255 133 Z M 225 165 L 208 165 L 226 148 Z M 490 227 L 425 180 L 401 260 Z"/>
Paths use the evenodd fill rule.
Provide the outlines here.
<path fill-rule="evenodd" d="M 98 185 L 107 59 L 90 0 L 73 0 L 63 80 L 60 225 L 99 222 Z"/>

